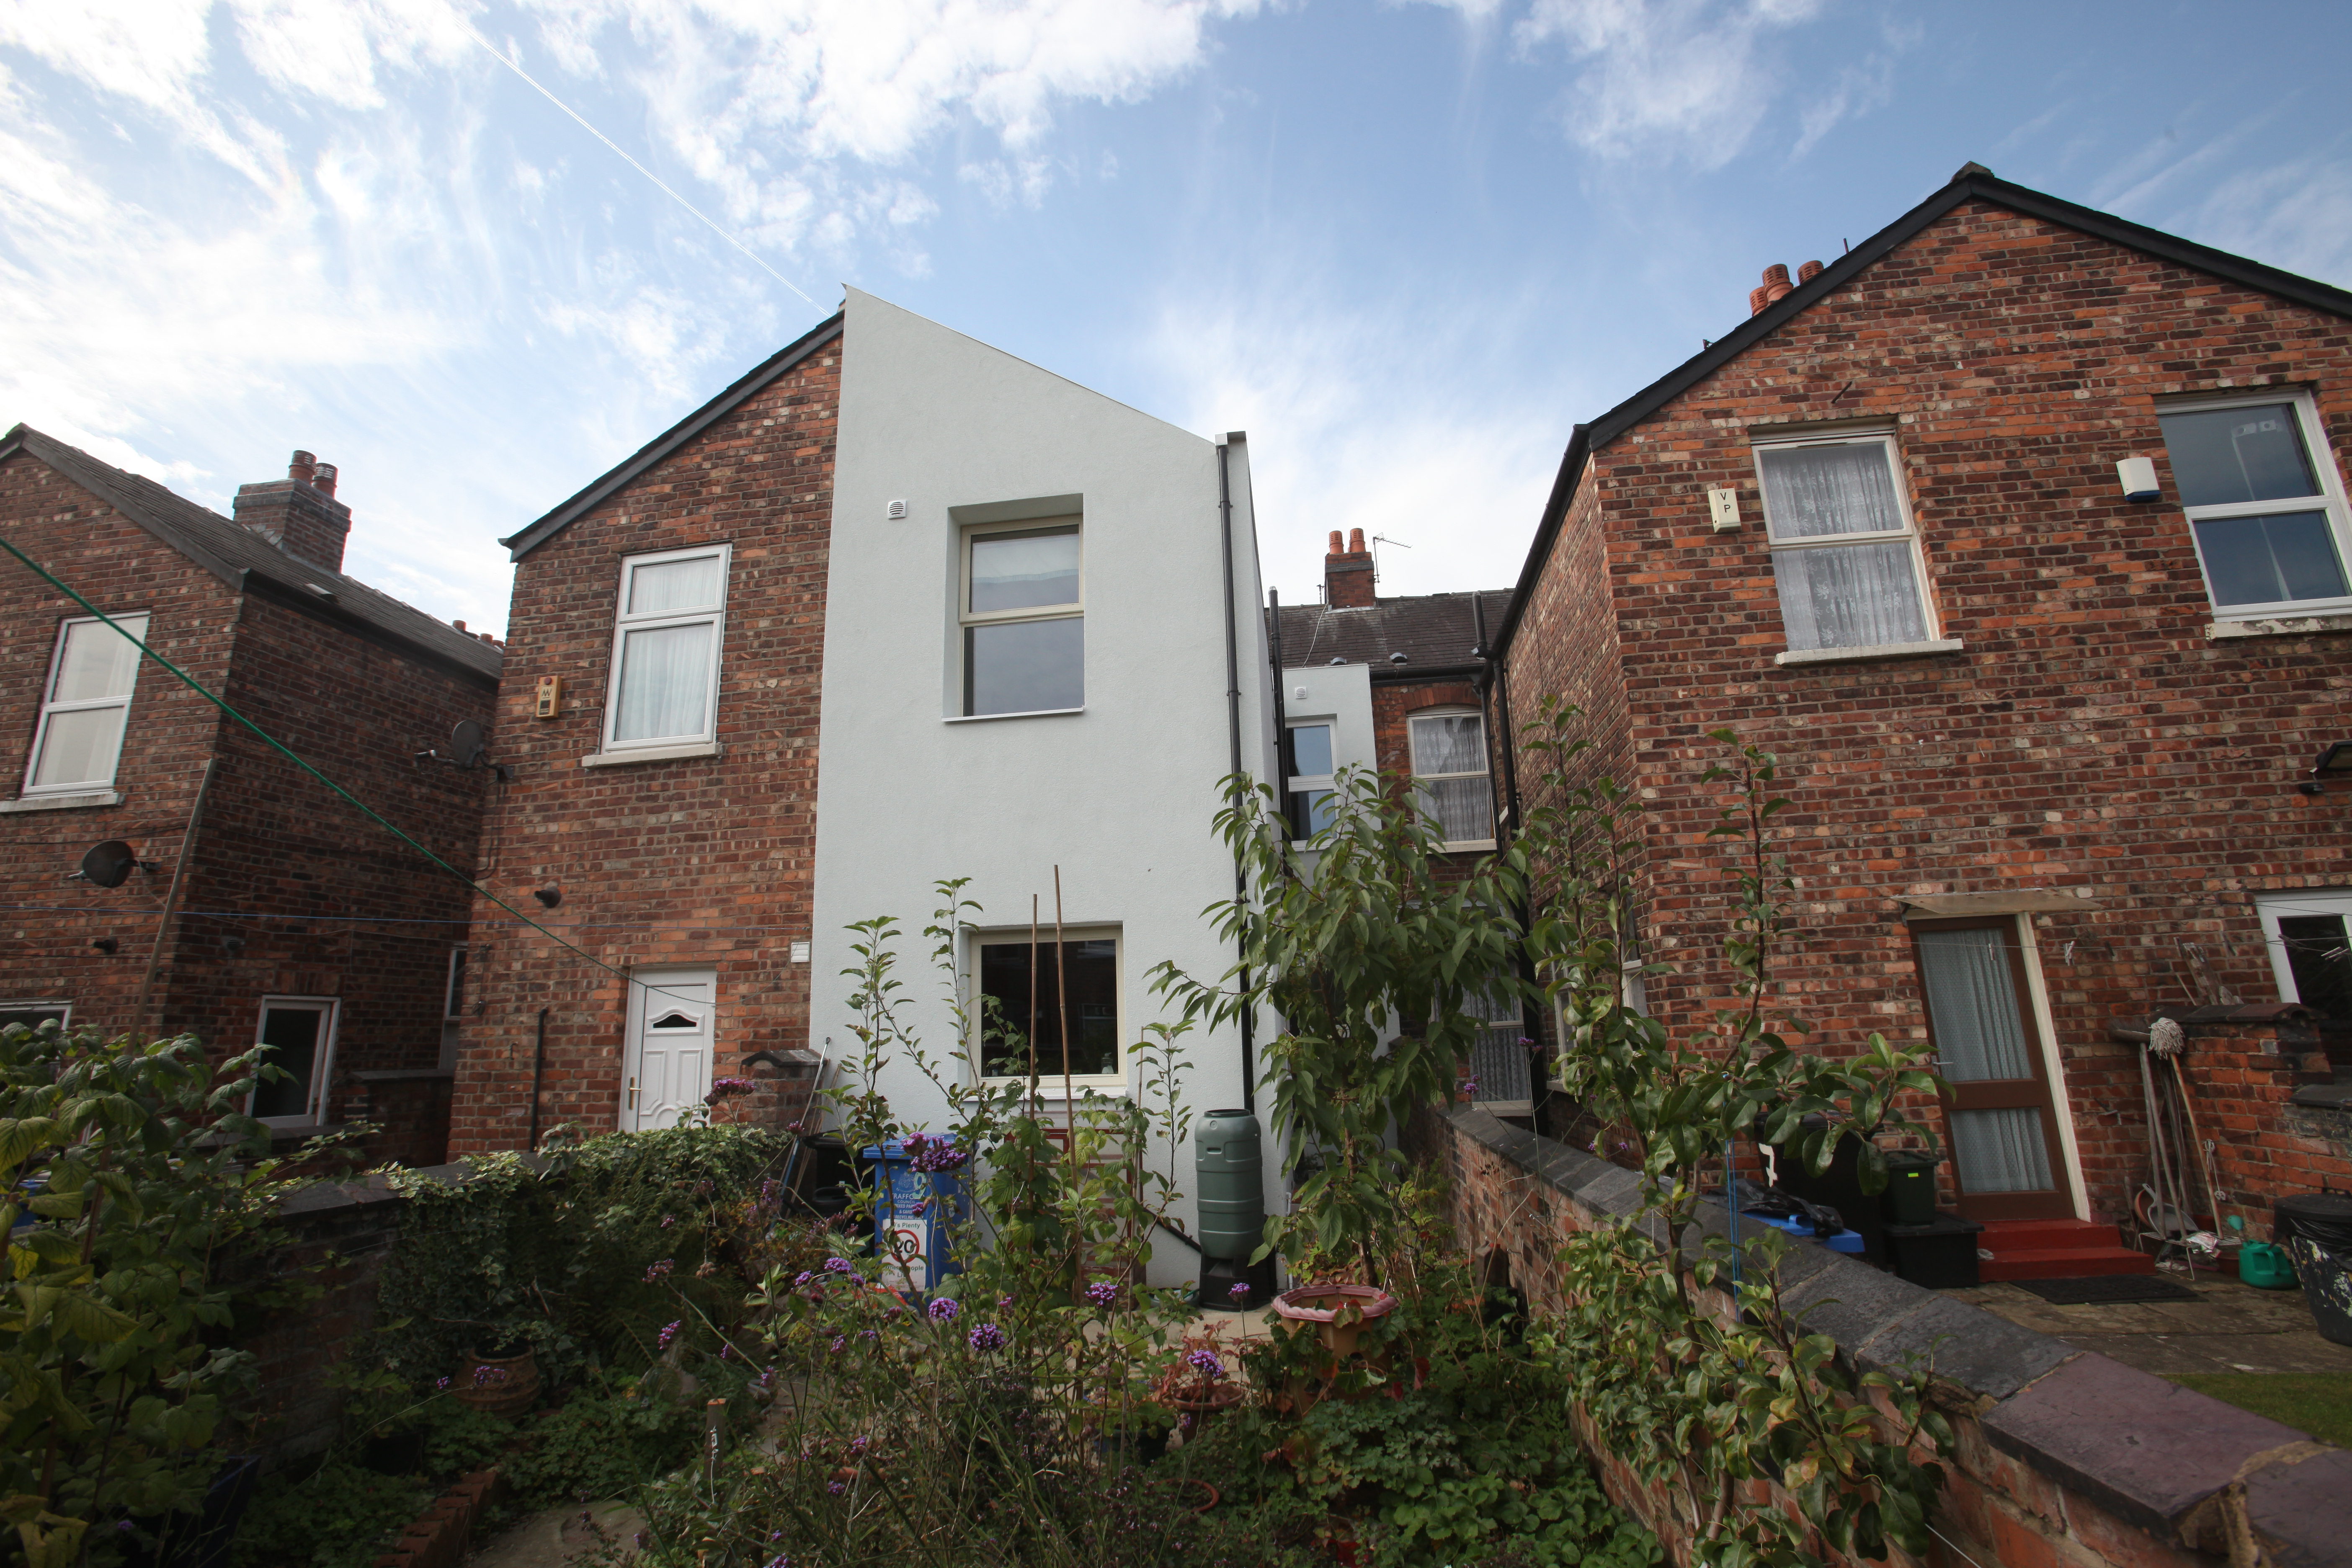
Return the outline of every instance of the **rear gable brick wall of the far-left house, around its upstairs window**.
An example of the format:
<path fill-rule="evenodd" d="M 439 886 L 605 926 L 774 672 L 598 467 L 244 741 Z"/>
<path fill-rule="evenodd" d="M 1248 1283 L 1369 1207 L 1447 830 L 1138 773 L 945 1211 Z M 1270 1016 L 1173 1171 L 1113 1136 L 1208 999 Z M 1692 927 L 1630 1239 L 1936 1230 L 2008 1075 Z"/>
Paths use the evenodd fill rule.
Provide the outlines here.
<path fill-rule="evenodd" d="M 40 458 L 0 463 L 0 534 L 106 614 L 146 611 L 148 642 L 219 689 L 238 595 Z M 56 628 L 87 611 L 0 557 L 0 797 L 14 802 L 40 722 Z M 219 710 L 153 665 L 139 672 L 111 806 L 0 811 L 0 999 L 64 999 L 73 1020 L 127 1030 L 155 950 L 181 830 Z M 68 882 L 82 851 L 127 842 L 153 872 L 118 889 Z M 115 952 L 92 947 L 113 940 Z"/>

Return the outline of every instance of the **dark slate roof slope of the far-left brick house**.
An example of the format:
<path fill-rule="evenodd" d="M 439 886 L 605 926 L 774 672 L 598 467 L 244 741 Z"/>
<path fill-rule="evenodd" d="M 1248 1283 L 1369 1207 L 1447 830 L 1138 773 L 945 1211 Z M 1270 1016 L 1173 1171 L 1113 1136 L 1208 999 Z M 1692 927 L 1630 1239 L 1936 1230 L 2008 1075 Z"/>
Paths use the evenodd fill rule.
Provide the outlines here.
<path fill-rule="evenodd" d="M 360 578 L 299 562 L 252 529 L 238 527 L 228 517 L 165 489 L 155 480 L 122 473 L 113 463 L 101 463 L 80 447 L 68 447 L 31 425 L 16 425 L 7 435 L 0 435 L 0 461 L 16 451 L 40 458 L 233 588 L 242 588 L 249 578 L 256 578 L 282 590 L 292 604 L 325 621 L 355 623 L 442 663 L 485 675 L 492 682 L 499 679 L 506 656 L 496 646 L 412 604 L 402 604 Z M 325 588 L 334 599 L 322 599 L 313 585 Z"/>

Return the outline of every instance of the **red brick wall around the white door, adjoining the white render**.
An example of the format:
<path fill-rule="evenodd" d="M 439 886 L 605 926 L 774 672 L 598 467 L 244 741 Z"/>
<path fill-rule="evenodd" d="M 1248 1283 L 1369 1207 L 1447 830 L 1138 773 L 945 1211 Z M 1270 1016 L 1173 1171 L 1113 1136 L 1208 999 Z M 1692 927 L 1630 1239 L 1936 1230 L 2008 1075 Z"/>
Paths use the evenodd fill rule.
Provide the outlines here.
<path fill-rule="evenodd" d="M 539 1009 L 541 1128 L 612 1131 L 628 997 L 616 971 L 720 976 L 713 1077 L 807 1041 L 816 853 L 816 715 L 840 341 L 532 550 L 515 569 L 496 755 L 517 766 L 492 809 L 480 879 L 595 957 L 477 900 L 452 1152 L 527 1143 Z M 731 541 L 720 757 L 579 766 L 602 743 L 621 557 Z M 532 717 L 536 682 L 564 712 Z M 532 889 L 562 886 L 553 912 Z"/>

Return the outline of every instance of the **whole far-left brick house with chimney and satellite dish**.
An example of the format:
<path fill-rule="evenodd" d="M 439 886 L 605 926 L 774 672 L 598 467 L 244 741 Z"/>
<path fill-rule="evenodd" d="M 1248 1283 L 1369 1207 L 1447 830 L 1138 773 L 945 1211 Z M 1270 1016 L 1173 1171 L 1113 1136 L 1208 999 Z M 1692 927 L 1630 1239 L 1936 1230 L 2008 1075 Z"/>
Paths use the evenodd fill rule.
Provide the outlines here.
<path fill-rule="evenodd" d="M 489 773 L 416 755 L 489 719 L 499 649 L 346 576 L 334 487 L 296 451 L 228 520 L 26 425 L 0 437 L 0 534 L 466 870 Z M 372 1154 L 440 1159 L 456 877 L 16 559 L 0 733 L 0 1016 L 268 1041 L 294 1074 L 254 1105 L 273 1126 L 372 1119 Z M 78 875 L 106 842 L 136 858 L 118 886 Z"/>

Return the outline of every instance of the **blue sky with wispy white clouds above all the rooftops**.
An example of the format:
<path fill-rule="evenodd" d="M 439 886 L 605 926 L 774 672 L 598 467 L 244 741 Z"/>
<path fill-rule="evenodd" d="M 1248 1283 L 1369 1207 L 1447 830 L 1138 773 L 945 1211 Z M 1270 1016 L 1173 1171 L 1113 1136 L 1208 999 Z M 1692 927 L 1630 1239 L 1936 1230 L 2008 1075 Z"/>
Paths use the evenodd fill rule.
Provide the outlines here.
<path fill-rule="evenodd" d="M 1247 430 L 1265 576 L 1517 578 L 1576 421 L 1964 162 L 2352 287 L 2352 5 L 0 0 L 0 428 L 503 630 L 856 284 Z M 851 350 L 854 353 L 854 350 Z"/>

